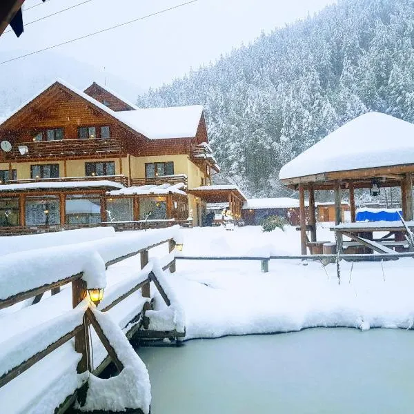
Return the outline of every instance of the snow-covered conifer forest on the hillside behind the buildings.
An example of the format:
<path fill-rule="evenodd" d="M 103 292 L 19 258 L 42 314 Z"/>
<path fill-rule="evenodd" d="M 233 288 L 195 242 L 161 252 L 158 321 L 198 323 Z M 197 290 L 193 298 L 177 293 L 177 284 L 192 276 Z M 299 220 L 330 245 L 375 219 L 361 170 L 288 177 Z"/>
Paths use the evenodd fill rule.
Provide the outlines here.
<path fill-rule="evenodd" d="M 339 0 L 138 104 L 203 104 L 221 179 L 283 195 L 281 166 L 346 121 L 377 110 L 414 122 L 413 45 L 412 0 Z"/>

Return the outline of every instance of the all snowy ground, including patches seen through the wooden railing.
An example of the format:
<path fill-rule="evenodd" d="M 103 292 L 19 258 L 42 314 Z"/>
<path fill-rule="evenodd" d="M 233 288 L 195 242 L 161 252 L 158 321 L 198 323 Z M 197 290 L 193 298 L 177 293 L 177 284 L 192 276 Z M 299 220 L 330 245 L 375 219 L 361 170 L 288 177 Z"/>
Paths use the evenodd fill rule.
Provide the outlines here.
<path fill-rule="evenodd" d="M 319 226 L 318 239 L 333 240 L 329 226 Z M 262 233 L 258 226 L 236 227 L 234 231 L 222 227 L 179 231 L 178 238 L 184 241 L 183 255 L 264 256 L 298 254 L 300 249 L 299 232 L 290 226 L 286 226 L 285 231 L 278 229 L 271 233 Z M 107 241 L 108 236 L 113 238 L 117 250 L 124 248 L 128 240 L 138 246 L 136 237 L 139 233 L 102 236 Z M 155 236 L 151 232 L 142 233 L 145 235 L 143 239 Z M 52 239 L 55 237 L 57 234 Z M 95 237 L 99 236 L 95 234 Z M 10 244 L 13 239 L 10 238 Z M 22 250 L 36 248 L 39 239 L 33 236 L 34 239 L 35 243 L 31 243 L 31 239 L 21 239 L 25 241 L 20 244 Z M 111 259 L 114 249 L 111 250 L 104 240 L 87 243 L 97 246 L 100 254 Z M 62 242 L 70 244 L 76 240 L 69 237 Z M 14 243 L 14 246 L 19 248 L 19 243 Z M 150 257 L 161 257 L 166 253 L 167 246 L 163 245 L 152 249 Z M 411 328 L 414 323 L 413 265 L 411 258 L 383 264 L 358 262 L 353 267 L 342 261 L 339 285 L 335 264 L 324 267 L 313 260 L 306 264 L 300 260 L 272 260 L 269 272 L 261 273 L 260 262 L 257 261 L 178 259 L 177 272 L 166 272 L 164 278 L 170 285 L 170 296 L 181 305 L 179 314 L 185 318 L 186 339 L 299 331 L 313 326 L 351 326 L 362 330 L 372 327 Z M 140 277 L 139 268 L 139 256 L 110 266 L 106 270 L 108 286 L 105 295 L 109 298 L 129 286 L 132 275 Z M 161 310 L 165 304 L 155 286 L 151 290 L 157 298 L 156 309 Z M 125 326 L 142 302 L 141 293 L 137 291 L 112 308 L 109 314 L 119 326 Z M 0 312 L 0 349 L 1 343 L 11 344 L 22 333 L 37 329 L 39 324 L 53 324 L 57 321 L 54 318 L 68 313 L 72 308 L 70 286 L 63 288 L 58 295 L 46 296 L 39 304 L 27 305 L 22 302 Z M 92 340 L 94 366 L 97 366 L 106 352 L 93 332 Z M 75 375 L 78 360 L 79 355 L 75 353 L 72 342 L 62 346 L 18 379 L 0 388 L 0 406 L 6 407 L 10 413 L 52 412 L 62 397 L 79 386 Z M 59 364 L 57 361 L 62 362 Z M 57 365 L 60 366 L 59 373 L 54 369 Z M 55 377 L 50 375 L 50 371 L 56 373 Z M 41 382 L 37 380 L 40 377 L 43 379 Z M 22 387 L 27 388 L 25 398 L 16 399 Z M 41 393 L 43 400 L 38 403 Z"/>

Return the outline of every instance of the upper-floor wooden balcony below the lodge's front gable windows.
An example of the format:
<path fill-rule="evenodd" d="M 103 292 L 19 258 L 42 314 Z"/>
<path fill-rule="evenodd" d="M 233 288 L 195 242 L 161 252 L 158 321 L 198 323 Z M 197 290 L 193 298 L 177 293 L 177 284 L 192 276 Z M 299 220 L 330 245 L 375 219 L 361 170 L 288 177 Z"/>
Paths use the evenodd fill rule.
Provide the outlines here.
<path fill-rule="evenodd" d="M 21 154 L 19 147 L 28 151 Z M 14 144 L 10 152 L 0 152 L 1 161 L 61 159 L 82 157 L 119 157 L 123 153 L 117 139 L 61 139 L 59 141 L 30 141 Z"/>

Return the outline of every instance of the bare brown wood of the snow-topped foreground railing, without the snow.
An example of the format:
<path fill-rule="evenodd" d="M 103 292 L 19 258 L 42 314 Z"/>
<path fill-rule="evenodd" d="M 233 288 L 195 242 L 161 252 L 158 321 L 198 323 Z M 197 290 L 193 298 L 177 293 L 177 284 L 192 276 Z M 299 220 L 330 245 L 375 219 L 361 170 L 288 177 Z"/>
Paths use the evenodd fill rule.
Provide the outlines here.
<path fill-rule="evenodd" d="M 150 250 L 151 248 L 155 248 L 156 246 L 160 246 L 161 244 L 165 244 L 165 243 L 168 243 L 168 250 L 171 253 L 172 250 L 175 249 L 175 240 L 171 238 L 161 239 L 160 242 L 157 242 L 150 246 L 146 246 L 144 248 L 140 248 L 138 250 L 132 251 L 125 255 L 121 255 L 119 257 L 110 259 L 108 262 L 106 262 L 106 268 L 108 268 L 108 266 L 111 266 L 112 264 L 119 263 L 125 259 L 128 259 L 129 257 L 140 255 L 141 269 L 145 271 L 144 268 L 146 268 L 146 266 L 148 265 L 148 250 Z M 175 272 L 175 257 L 172 256 L 170 259 L 170 257 L 167 256 L 167 259 L 169 260 L 169 262 L 165 263 L 164 266 L 162 266 L 162 269 L 166 270 L 166 268 L 169 268 L 171 273 Z M 49 290 L 52 292 L 52 295 L 56 295 L 57 293 L 59 293 L 61 286 L 64 286 L 66 284 L 72 284 L 73 311 L 70 311 L 70 312 L 75 312 L 75 308 L 77 308 L 77 306 L 81 306 L 80 305 L 81 302 L 83 302 L 84 299 L 87 297 L 86 282 L 83 281 L 82 277 L 83 277 L 83 273 L 77 273 L 75 275 L 64 277 L 63 279 L 60 279 L 57 282 L 45 284 L 43 286 L 32 288 L 30 290 L 18 293 L 16 295 L 12 295 L 11 297 L 8 297 L 6 299 L 1 299 L 0 309 L 7 308 L 19 302 L 22 302 L 23 300 L 30 299 L 31 297 L 34 297 L 32 304 L 37 304 L 38 302 L 40 302 L 43 294 L 48 292 Z M 132 295 L 132 293 L 135 293 L 137 290 L 141 289 L 142 296 L 144 298 L 147 298 L 148 300 L 146 302 L 146 306 L 144 306 L 144 308 L 141 311 L 142 313 L 141 323 L 132 324 L 132 328 L 130 328 L 130 330 L 126 333 L 126 337 L 128 338 L 132 337 L 132 335 L 135 335 L 137 331 L 139 331 L 139 329 L 141 329 L 145 324 L 144 313 L 146 310 L 150 308 L 152 304 L 151 299 L 150 299 L 150 282 L 154 282 L 155 286 L 159 290 L 161 297 L 164 299 L 167 306 L 170 306 L 170 300 L 168 299 L 168 296 L 166 295 L 164 288 L 161 286 L 161 284 L 159 284 L 155 273 L 152 270 L 150 270 L 148 272 L 148 275 L 144 279 L 141 277 L 141 279 L 137 281 L 137 284 L 135 284 L 135 286 L 130 287 L 125 292 L 121 292 L 119 296 L 117 297 L 112 297 L 110 302 L 106 303 L 106 306 L 101 309 L 101 311 L 103 312 L 109 311 L 110 308 L 119 304 L 119 302 L 123 301 L 124 299 Z M 62 315 L 62 317 L 63 316 L 64 315 Z M 132 319 L 132 321 L 138 320 L 139 316 L 140 315 L 135 316 Z M 57 317 L 54 320 L 56 324 L 59 324 L 59 317 Z M 84 373 L 86 371 L 91 371 L 90 355 L 89 355 L 90 338 L 88 335 L 89 324 L 92 324 L 92 326 L 95 328 L 95 331 L 97 332 L 99 339 L 101 340 L 103 346 L 106 348 L 106 351 L 108 352 L 108 357 L 106 357 L 106 359 L 104 359 L 103 362 L 101 362 L 101 364 L 99 364 L 99 366 L 97 366 L 97 368 L 95 368 L 95 370 L 92 372 L 98 375 L 103 370 L 103 368 L 105 368 L 105 366 L 107 366 L 111 361 L 114 362 L 118 370 L 121 371 L 123 366 L 121 362 L 119 362 L 117 355 L 114 353 L 113 348 L 110 346 L 108 339 L 106 339 L 105 335 L 103 334 L 103 331 L 100 328 L 97 322 L 97 319 L 94 317 L 92 311 L 90 310 L 90 307 L 86 309 L 86 312 L 82 320 L 83 320 L 82 324 L 79 324 L 79 326 L 76 326 L 71 331 L 64 333 L 64 335 L 57 338 L 55 342 L 52 342 L 52 344 L 49 344 L 48 346 L 46 346 L 46 348 L 44 348 L 40 352 L 35 353 L 34 355 L 31 355 L 30 357 L 28 357 L 28 359 L 21 361 L 20 364 L 18 364 L 17 366 L 13 366 L 8 372 L 4 373 L 0 377 L 0 388 L 8 384 L 8 382 L 13 380 L 14 378 L 21 375 L 21 373 L 28 370 L 28 368 L 30 368 L 31 366 L 39 362 L 41 359 L 43 359 L 44 357 L 52 353 L 52 351 L 55 351 L 57 348 L 59 348 L 60 346 L 68 342 L 73 337 L 75 337 L 75 351 L 77 353 L 81 353 L 82 355 L 81 360 L 79 364 L 77 365 L 77 372 Z M 132 323 L 132 321 L 128 322 L 126 326 Z M 121 327 L 126 328 L 126 326 L 121 326 Z M 48 332 L 50 332 L 50 330 Z M 161 333 L 161 335 L 166 335 L 162 337 L 179 337 L 179 336 L 184 336 L 185 333 L 172 331 L 168 333 Z M 151 335 L 148 335 L 148 333 L 142 336 L 151 337 Z M 41 378 L 39 380 L 41 380 Z M 64 402 L 64 406 L 68 408 L 70 404 L 75 402 L 75 399 L 76 399 L 76 393 L 74 395 L 67 396 L 66 401 Z"/>

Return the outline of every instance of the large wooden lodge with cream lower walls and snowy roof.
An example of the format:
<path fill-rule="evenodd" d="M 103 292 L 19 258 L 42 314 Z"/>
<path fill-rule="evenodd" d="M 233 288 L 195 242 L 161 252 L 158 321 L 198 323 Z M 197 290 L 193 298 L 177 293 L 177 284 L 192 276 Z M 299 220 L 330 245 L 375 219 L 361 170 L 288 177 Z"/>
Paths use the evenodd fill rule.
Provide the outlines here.
<path fill-rule="evenodd" d="M 208 199 L 230 201 L 235 215 L 244 201 L 237 188 L 210 186 L 219 167 L 202 106 L 137 108 L 95 82 L 82 92 L 59 80 L 0 124 L 0 141 L 2 234 L 197 226 Z"/>

